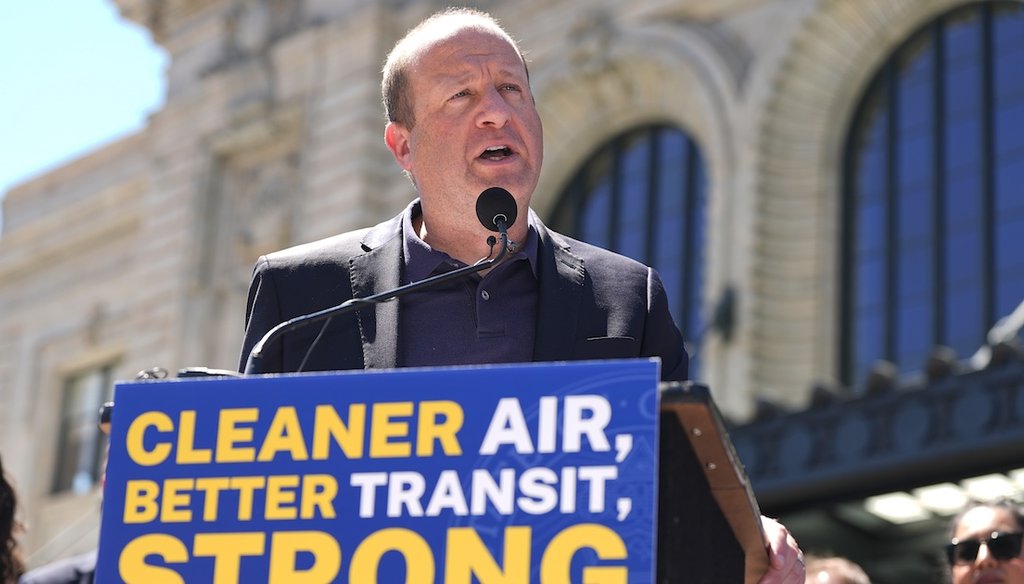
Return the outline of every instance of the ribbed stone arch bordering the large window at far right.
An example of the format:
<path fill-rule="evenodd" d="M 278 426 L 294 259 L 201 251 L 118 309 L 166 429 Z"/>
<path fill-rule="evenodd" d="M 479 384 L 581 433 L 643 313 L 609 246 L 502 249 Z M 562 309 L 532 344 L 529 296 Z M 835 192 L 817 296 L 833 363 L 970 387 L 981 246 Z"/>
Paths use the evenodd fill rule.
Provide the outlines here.
<path fill-rule="evenodd" d="M 843 150 L 866 84 L 920 27 L 981 0 L 823 0 L 790 43 L 758 144 L 752 383 L 792 401 L 838 374 Z"/>

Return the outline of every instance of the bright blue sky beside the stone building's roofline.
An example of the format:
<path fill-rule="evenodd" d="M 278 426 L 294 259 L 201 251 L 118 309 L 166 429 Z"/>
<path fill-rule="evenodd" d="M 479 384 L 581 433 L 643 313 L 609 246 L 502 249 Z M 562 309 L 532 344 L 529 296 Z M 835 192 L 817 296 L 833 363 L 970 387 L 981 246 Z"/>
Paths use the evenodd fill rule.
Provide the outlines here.
<path fill-rule="evenodd" d="M 0 197 L 144 127 L 166 67 L 114 0 L 0 2 Z"/>

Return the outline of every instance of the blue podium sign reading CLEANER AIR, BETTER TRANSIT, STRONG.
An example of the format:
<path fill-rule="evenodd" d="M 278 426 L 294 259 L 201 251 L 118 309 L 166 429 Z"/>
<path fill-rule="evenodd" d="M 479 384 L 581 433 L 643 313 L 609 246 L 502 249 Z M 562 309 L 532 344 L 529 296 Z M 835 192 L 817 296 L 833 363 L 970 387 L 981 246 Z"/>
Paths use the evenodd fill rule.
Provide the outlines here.
<path fill-rule="evenodd" d="M 650 583 L 658 363 L 119 383 L 97 582 Z"/>

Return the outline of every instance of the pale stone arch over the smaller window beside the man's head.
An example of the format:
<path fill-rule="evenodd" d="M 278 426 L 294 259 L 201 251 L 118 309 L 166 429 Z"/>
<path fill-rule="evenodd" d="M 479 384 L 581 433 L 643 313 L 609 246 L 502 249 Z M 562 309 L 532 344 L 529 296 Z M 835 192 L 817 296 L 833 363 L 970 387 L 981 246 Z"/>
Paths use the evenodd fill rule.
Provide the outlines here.
<path fill-rule="evenodd" d="M 697 143 L 713 200 L 731 190 L 729 118 L 741 68 L 695 33 L 697 27 L 610 18 L 587 27 L 557 58 L 531 71 L 546 149 L 534 198 L 538 212 L 554 207 L 564 183 L 597 148 L 652 122 L 677 125 Z"/>

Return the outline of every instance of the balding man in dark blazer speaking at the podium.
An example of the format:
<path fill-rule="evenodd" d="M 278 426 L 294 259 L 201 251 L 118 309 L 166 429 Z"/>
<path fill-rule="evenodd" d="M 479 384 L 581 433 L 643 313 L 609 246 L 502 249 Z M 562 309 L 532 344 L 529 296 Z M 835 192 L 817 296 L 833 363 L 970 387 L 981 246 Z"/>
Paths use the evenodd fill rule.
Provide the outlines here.
<path fill-rule="evenodd" d="M 260 257 L 243 370 L 284 321 L 489 257 L 476 201 L 498 186 L 520 218 L 502 263 L 308 327 L 321 333 L 298 331 L 267 347 L 262 372 L 657 357 L 664 379 L 688 377 L 657 273 L 555 233 L 529 209 L 544 157 L 541 117 L 522 52 L 495 18 L 471 8 L 430 16 L 389 53 L 381 92 L 384 142 L 418 198 L 369 230 Z M 793 536 L 763 524 L 772 561 L 762 582 L 803 584 Z"/>

